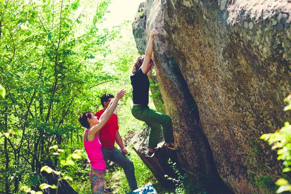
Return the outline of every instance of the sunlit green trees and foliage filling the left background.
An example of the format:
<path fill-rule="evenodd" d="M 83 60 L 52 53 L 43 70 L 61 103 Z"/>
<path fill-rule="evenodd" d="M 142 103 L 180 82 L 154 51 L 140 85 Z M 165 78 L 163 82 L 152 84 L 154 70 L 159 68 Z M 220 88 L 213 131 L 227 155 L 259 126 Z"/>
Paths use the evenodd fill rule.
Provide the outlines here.
<path fill-rule="evenodd" d="M 59 166 L 60 157 L 83 149 L 78 116 L 96 112 L 106 92 L 129 92 L 118 109 L 121 129 L 142 125 L 129 113 L 129 67 L 137 55 L 132 34 L 121 36 L 129 22 L 100 28 L 109 3 L 0 1 L 0 89 L 6 90 L 0 134 L 8 134 L 0 137 L 0 193 L 18 193 L 23 185 L 39 190 L 46 160 Z M 65 150 L 63 156 L 52 155 L 53 145 Z M 88 175 L 78 169 L 79 178 Z M 75 170 L 67 168 L 67 174 Z"/>

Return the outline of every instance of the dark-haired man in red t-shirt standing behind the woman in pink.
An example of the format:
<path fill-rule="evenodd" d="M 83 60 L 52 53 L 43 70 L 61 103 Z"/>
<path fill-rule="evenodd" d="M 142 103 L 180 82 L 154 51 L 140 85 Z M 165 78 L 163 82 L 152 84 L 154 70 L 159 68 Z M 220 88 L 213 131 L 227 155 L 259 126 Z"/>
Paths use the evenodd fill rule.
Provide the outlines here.
<path fill-rule="evenodd" d="M 101 104 L 104 107 L 103 110 L 98 111 L 95 116 L 99 119 L 100 116 L 107 109 L 110 100 L 113 99 L 114 96 L 111 94 L 105 94 L 101 97 Z M 128 151 L 125 149 L 121 136 L 118 131 L 118 119 L 116 114 L 112 114 L 111 118 L 107 121 L 104 127 L 99 131 L 99 140 L 101 142 L 101 150 L 103 153 L 103 158 L 105 163 L 108 160 L 118 164 L 124 170 L 124 174 L 129 183 L 130 191 L 136 190 L 137 182 L 134 175 L 134 167 L 133 162 L 126 156 Z M 114 146 L 114 143 L 121 148 L 121 151 Z"/>

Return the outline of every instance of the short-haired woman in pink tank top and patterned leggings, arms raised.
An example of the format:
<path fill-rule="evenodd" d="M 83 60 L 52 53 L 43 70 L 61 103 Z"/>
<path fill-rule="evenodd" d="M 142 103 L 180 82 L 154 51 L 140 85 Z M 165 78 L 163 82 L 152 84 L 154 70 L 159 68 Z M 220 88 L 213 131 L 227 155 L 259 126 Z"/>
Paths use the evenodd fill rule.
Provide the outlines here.
<path fill-rule="evenodd" d="M 116 97 L 111 100 L 106 111 L 97 117 L 92 112 L 85 112 L 79 117 L 81 126 L 87 128 L 83 136 L 84 147 L 91 164 L 90 179 L 92 194 L 104 194 L 104 176 L 106 164 L 103 160 L 101 143 L 97 138 L 97 132 L 106 124 L 112 116 L 117 102 L 126 94 L 126 90 L 118 91 Z"/>

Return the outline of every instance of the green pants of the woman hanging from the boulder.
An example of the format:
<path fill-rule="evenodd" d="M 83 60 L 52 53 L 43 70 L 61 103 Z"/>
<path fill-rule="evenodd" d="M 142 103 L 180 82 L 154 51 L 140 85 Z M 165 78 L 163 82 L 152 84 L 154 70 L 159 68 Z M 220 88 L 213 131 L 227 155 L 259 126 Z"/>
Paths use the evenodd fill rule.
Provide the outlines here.
<path fill-rule="evenodd" d="M 148 106 L 133 106 L 131 113 L 136 119 L 145 121 L 146 125 L 150 127 L 148 147 L 158 146 L 161 125 L 165 142 L 174 143 L 173 124 L 169 115 L 154 111 Z"/>

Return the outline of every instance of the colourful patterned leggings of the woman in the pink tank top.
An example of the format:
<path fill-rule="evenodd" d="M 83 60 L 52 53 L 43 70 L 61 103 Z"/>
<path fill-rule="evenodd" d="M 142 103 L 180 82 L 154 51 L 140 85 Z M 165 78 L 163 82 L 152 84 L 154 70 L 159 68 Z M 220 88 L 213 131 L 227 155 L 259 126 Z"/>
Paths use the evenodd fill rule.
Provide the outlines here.
<path fill-rule="evenodd" d="M 91 168 L 91 190 L 92 194 L 104 194 L 104 176 L 105 170 Z"/>

